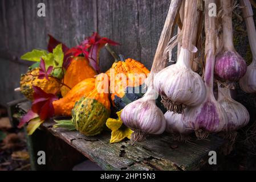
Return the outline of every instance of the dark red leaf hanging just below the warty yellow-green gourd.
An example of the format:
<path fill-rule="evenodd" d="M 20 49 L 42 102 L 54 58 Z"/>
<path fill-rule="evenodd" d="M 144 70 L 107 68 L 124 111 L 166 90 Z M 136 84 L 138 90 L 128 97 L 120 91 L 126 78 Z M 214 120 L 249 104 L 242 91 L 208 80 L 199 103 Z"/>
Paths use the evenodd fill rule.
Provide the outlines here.
<path fill-rule="evenodd" d="M 54 116 L 53 101 L 58 100 L 54 94 L 46 93 L 38 86 L 32 86 L 34 89 L 34 100 L 32 102 L 32 111 L 37 113 L 41 120 L 51 118 Z"/>

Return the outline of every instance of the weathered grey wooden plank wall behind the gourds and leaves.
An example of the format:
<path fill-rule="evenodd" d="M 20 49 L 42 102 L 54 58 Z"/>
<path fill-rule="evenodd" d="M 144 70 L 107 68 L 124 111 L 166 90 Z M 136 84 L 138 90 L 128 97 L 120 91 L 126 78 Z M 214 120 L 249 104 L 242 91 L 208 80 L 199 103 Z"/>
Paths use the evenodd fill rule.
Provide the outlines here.
<path fill-rule="evenodd" d="M 46 5 L 46 17 L 37 16 L 40 2 Z M 22 97 L 14 88 L 19 87 L 19 77 L 30 63 L 19 57 L 34 48 L 46 49 L 47 34 L 72 47 L 84 36 L 99 32 L 121 44 L 114 48 L 117 53 L 140 60 L 150 69 L 169 3 L 170 0 L 0 0 L 0 104 Z M 235 22 L 238 52 L 250 61 L 244 25 Z M 112 61 L 103 49 L 101 71 L 106 71 Z"/>

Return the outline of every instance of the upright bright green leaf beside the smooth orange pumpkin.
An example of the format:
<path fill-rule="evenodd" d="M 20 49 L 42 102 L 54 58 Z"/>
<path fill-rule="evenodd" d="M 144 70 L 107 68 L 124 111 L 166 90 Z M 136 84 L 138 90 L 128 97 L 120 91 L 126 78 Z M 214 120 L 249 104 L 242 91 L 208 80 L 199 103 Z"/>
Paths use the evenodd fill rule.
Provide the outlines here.
<path fill-rule="evenodd" d="M 53 61 L 53 66 L 54 66 L 54 71 L 52 75 L 56 78 L 62 78 L 63 77 L 63 71 L 62 71 L 62 65 L 63 65 L 63 59 L 64 59 L 64 53 L 62 51 L 62 44 L 59 44 L 56 46 L 53 51 L 54 55 L 54 61 Z"/>

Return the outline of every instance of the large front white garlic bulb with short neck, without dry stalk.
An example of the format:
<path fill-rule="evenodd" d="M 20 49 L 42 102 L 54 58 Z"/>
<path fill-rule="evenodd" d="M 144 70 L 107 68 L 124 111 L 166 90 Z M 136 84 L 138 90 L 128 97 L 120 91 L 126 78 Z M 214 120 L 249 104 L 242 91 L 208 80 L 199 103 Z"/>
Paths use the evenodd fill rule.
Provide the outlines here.
<path fill-rule="evenodd" d="M 205 84 L 191 69 L 188 49 L 181 48 L 177 63 L 157 73 L 153 83 L 166 109 L 174 113 L 182 113 L 184 105 L 197 106 L 205 100 Z"/>

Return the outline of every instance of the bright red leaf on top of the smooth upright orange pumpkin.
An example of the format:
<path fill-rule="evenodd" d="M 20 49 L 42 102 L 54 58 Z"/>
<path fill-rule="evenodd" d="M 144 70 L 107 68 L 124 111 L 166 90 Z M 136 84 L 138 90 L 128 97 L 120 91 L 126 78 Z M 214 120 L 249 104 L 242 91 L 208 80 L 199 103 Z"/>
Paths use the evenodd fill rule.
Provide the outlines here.
<path fill-rule="evenodd" d="M 90 37 L 86 38 L 79 46 L 71 48 L 68 53 L 72 53 L 74 56 L 78 56 L 83 53 L 84 57 L 89 60 L 92 68 L 94 68 L 96 72 L 100 73 L 99 52 L 100 48 L 106 43 L 109 43 L 112 46 L 120 45 L 108 38 L 101 38 L 99 34 L 95 32 Z"/>

